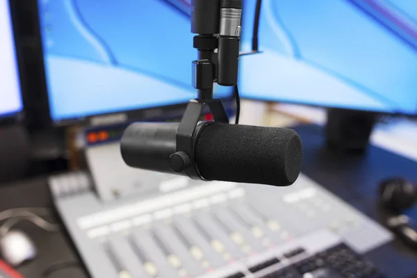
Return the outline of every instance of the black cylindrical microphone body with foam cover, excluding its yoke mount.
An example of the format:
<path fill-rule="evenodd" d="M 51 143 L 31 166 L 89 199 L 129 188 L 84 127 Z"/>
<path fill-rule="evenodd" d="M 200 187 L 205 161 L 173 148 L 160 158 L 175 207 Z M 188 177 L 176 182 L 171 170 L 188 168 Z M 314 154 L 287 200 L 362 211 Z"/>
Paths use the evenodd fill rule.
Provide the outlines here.
<path fill-rule="evenodd" d="M 177 152 L 178 126 L 149 122 L 128 126 L 121 140 L 124 162 L 131 167 L 184 175 L 186 171 L 175 172 L 172 165 L 194 163 L 203 180 L 272 186 L 289 186 L 300 174 L 302 144 L 292 129 L 201 122 L 193 134 L 193 161 L 186 161 L 188 156 L 184 161 L 172 156 Z"/>

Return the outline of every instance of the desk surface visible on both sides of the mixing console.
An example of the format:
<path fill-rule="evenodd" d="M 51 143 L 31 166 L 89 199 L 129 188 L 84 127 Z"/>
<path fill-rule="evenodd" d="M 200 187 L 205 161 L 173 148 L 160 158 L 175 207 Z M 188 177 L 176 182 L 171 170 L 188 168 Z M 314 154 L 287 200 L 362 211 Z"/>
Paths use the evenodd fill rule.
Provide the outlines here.
<path fill-rule="evenodd" d="M 341 156 L 323 147 L 322 129 L 318 126 L 298 126 L 303 140 L 303 172 L 357 207 L 371 218 L 382 220 L 384 213 L 377 209 L 376 190 L 380 180 L 402 176 L 416 181 L 416 163 L 377 147 L 369 147 L 366 156 Z M 19 196 L 19 197 L 17 197 Z M 0 187 L 0 211 L 24 206 L 51 206 L 46 179 L 33 179 Z M 417 215 L 417 208 L 414 210 Z M 54 215 L 53 219 L 58 221 Z M 65 232 L 49 234 L 22 222 L 18 229 L 26 231 L 38 247 L 38 259 L 19 271 L 26 277 L 40 277 L 42 271 L 56 261 L 78 261 L 76 252 Z M 367 254 L 389 277 L 402 278 L 417 274 L 417 252 L 399 240 Z M 88 277 L 83 270 L 63 270 L 51 278 Z"/>

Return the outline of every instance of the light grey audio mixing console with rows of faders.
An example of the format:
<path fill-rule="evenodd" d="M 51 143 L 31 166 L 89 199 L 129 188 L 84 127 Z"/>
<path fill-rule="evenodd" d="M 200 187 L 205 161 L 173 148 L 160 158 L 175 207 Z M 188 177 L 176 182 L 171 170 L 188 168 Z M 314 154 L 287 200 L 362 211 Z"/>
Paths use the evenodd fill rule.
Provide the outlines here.
<path fill-rule="evenodd" d="M 90 174 L 49 181 L 92 277 L 382 277 L 361 254 L 389 231 L 303 175 L 275 188 L 129 171 L 137 193 L 106 201 Z"/>

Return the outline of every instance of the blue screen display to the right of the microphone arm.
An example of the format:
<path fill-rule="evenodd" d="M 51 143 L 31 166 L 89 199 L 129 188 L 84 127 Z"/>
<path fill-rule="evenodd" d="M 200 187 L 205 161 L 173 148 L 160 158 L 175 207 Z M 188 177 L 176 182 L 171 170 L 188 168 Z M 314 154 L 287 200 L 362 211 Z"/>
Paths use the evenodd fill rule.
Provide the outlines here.
<path fill-rule="evenodd" d="M 417 114 L 417 1 L 263 0 L 259 26 L 261 54 L 240 58 L 243 97 Z"/>

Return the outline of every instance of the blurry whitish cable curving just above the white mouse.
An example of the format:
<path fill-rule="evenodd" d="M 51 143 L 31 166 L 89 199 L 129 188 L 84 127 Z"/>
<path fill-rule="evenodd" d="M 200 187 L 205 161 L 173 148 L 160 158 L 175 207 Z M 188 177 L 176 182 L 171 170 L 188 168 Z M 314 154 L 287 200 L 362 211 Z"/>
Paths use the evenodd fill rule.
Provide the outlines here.
<path fill-rule="evenodd" d="M 47 222 L 47 220 L 44 220 L 39 215 L 36 215 L 35 213 L 31 213 L 30 211 L 22 211 L 20 213 L 15 213 L 12 218 L 9 218 L 1 224 L 0 226 L 0 237 L 7 234 L 10 229 L 15 226 L 18 222 L 22 220 L 28 220 L 35 224 L 36 226 L 40 227 L 41 229 L 44 229 L 45 231 L 55 232 L 59 231 L 60 227 L 58 224 L 53 224 L 50 222 Z"/>

